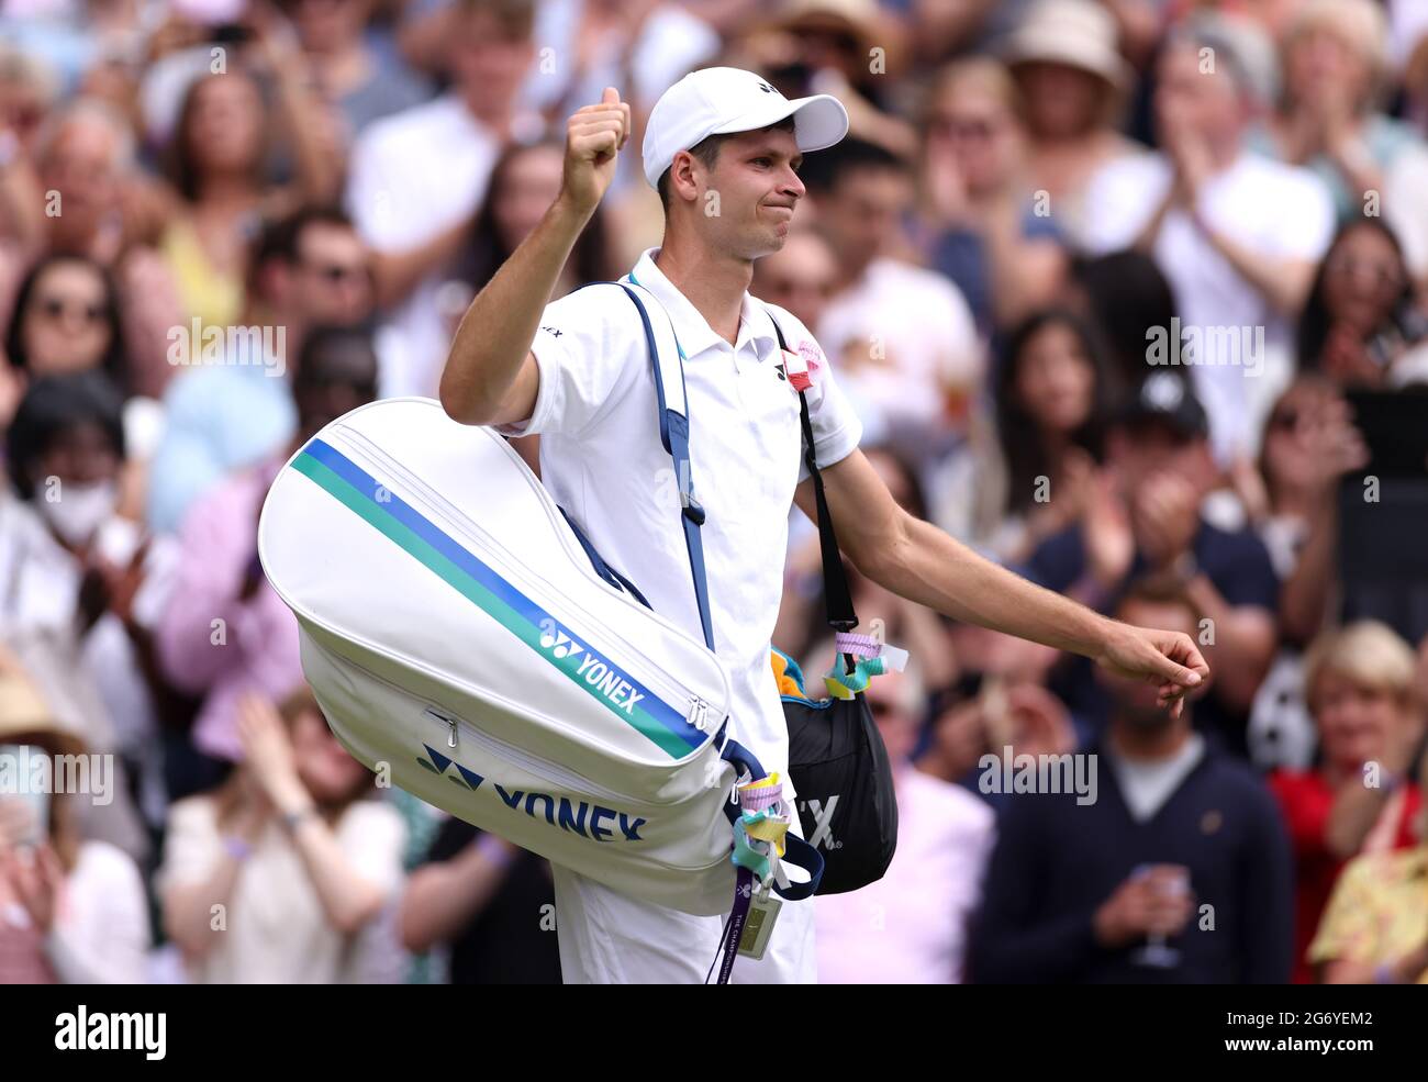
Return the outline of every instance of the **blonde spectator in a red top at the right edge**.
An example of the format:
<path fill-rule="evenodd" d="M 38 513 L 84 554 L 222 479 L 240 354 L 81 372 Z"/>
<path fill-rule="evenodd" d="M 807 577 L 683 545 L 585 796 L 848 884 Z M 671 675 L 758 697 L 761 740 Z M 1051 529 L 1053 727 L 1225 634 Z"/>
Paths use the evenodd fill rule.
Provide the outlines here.
<path fill-rule="evenodd" d="M 1297 984 L 1314 979 L 1305 952 L 1345 862 L 1417 844 L 1422 795 L 1408 772 L 1422 724 L 1414 671 L 1408 644 L 1371 621 L 1325 632 L 1305 657 L 1305 699 L 1319 731 L 1319 765 L 1269 778 L 1298 869 Z"/>

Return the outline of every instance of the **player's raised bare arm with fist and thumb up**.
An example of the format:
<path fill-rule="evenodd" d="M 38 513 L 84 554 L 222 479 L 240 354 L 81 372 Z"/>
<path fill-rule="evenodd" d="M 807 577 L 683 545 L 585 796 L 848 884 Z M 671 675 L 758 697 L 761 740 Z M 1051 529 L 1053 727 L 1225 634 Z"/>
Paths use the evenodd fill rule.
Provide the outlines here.
<path fill-rule="evenodd" d="M 577 110 L 565 128 L 560 194 L 501 264 L 457 328 L 441 371 L 441 407 L 463 424 L 524 421 L 536 408 L 540 373 L 531 341 L 571 248 L 600 206 L 630 138 L 630 106 L 605 87 L 598 106 Z"/>

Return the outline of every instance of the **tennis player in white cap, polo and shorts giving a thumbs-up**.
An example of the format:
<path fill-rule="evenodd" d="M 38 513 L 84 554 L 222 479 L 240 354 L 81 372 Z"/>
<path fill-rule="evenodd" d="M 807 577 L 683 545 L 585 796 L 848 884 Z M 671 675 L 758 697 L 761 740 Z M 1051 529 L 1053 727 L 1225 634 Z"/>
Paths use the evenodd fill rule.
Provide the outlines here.
<path fill-rule="evenodd" d="M 793 120 L 793 124 L 787 121 Z M 814 514 L 801 477 L 798 398 L 780 371 L 773 320 L 807 363 L 814 448 L 844 551 L 858 570 L 958 620 L 984 622 L 1098 658 L 1178 699 L 1208 674 L 1188 637 L 1131 628 L 1032 587 L 935 527 L 912 520 L 857 450 L 861 425 L 808 330 L 748 295 L 754 260 L 777 251 L 804 194 L 803 151 L 837 143 L 847 113 L 825 94 L 790 101 L 737 69 L 685 76 L 655 103 L 644 176 L 665 203 L 664 244 L 630 280 L 658 301 L 685 355 L 690 472 L 701 530 L 715 652 L 734 687 L 731 724 L 787 782 L 788 738 L 770 665 L 790 504 Z M 614 287 L 547 298 L 615 171 L 630 106 L 613 87 L 568 121 L 564 186 L 540 226 L 471 303 L 441 377 L 441 404 L 466 424 L 541 434 L 541 478 L 601 555 L 651 607 L 700 628 L 690 557 L 660 441 L 638 314 Z M 793 370 L 793 365 L 784 365 Z M 797 819 L 793 824 L 797 829 Z M 697 982 L 723 919 L 693 916 L 555 869 L 567 982 Z M 763 959 L 735 982 L 815 978 L 813 905 L 785 902 Z"/>

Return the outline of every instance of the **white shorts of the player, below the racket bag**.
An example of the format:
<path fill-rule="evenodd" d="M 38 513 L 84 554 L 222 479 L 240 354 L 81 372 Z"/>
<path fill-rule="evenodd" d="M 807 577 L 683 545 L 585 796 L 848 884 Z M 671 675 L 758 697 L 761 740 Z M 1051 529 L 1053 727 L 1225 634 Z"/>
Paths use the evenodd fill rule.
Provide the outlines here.
<path fill-rule="evenodd" d="M 555 935 L 567 985 L 703 984 L 720 948 L 724 916 L 665 909 L 567 868 L 555 866 L 554 874 Z M 730 982 L 817 984 L 813 902 L 783 902 L 764 956 L 735 958 Z"/>

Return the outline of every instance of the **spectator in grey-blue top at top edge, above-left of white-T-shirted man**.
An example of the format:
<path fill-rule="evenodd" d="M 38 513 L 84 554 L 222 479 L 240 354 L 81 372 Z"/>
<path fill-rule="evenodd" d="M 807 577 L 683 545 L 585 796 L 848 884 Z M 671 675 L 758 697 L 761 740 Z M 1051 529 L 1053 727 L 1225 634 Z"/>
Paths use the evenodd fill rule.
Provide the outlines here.
<path fill-rule="evenodd" d="M 364 41 L 376 0 L 284 0 L 283 7 L 320 93 L 341 108 L 347 143 L 374 120 L 430 97 L 420 79 Z"/>

